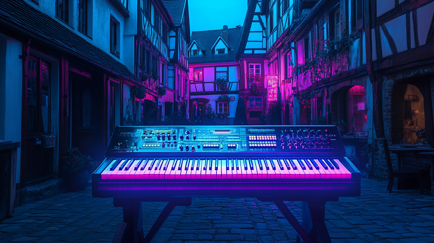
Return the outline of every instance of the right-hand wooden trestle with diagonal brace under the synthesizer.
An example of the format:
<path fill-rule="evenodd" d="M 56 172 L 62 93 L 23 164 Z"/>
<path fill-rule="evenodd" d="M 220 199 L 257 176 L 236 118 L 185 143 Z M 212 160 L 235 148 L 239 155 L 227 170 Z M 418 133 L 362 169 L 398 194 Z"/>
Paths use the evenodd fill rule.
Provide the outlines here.
<path fill-rule="evenodd" d="M 302 202 L 303 221 L 300 226 L 297 219 L 289 211 L 283 201 L 300 201 L 300 198 L 288 197 L 258 197 L 263 202 L 274 202 L 297 233 L 297 243 L 300 238 L 304 243 L 331 243 L 329 231 L 325 226 L 325 201 L 337 201 L 338 197 L 328 197 L 315 200 L 305 198 Z"/>

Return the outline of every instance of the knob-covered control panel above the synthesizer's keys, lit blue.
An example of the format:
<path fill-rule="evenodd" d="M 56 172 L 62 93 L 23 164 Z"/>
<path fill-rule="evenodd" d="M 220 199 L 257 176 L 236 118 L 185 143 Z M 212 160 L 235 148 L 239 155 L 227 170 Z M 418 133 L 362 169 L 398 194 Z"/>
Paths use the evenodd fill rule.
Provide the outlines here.
<path fill-rule="evenodd" d="M 107 152 L 345 151 L 335 126 L 118 126 Z"/>

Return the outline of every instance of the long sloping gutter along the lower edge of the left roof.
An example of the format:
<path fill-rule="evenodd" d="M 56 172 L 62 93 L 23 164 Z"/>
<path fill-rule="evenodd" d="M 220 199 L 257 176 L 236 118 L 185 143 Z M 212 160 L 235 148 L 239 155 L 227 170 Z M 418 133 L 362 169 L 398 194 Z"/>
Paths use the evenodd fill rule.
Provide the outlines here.
<path fill-rule="evenodd" d="M 116 72 L 116 71 L 113 71 L 112 69 L 109 69 L 109 68 L 107 68 L 107 67 L 105 67 L 105 66 L 99 64 L 98 62 L 95 62 L 95 61 L 93 61 L 93 60 L 91 60 L 91 59 L 89 59 L 89 58 L 87 58 L 87 57 L 85 57 L 85 56 L 82 56 L 82 55 L 80 55 L 79 53 L 73 52 L 72 50 L 70 50 L 70 49 L 68 49 L 68 48 L 66 48 L 66 47 L 64 47 L 64 46 L 61 46 L 59 43 L 56 43 L 56 42 L 54 42 L 54 41 L 52 41 L 52 40 L 49 40 L 49 39 L 43 38 L 43 37 L 41 37 L 41 36 L 38 36 L 38 35 L 36 35 L 36 34 L 30 32 L 29 30 L 24 30 L 21 26 L 16 26 L 16 25 L 14 25 L 13 23 L 10 23 L 9 21 L 5 20 L 4 18 L 0 18 L 0 24 L 1 24 L 4 28 L 7 28 L 7 29 L 9 29 L 9 30 L 11 30 L 11 31 L 14 31 L 14 32 L 16 32 L 16 33 L 19 33 L 19 34 L 21 34 L 21 35 L 23 35 L 23 36 L 28 36 L 30 39 L 32 39 L 33 41 L 36 41 L 37 43 L 44 44 L 44 45 L 46 45 L 46 46 L 48 46 L 48 47 L 52 47 L 53 49 L 60 50 L 60 51 L 66 53 L 66 54 L 68 54 L 68 55 L 70 55 L 70 56 L 76 57 L 76 58 L 78 58 L 78 59 L 80 59 L 80 60 L 82 60 L 82 61 L 84 61 L 84 62 L 90 63 L 90 64 L 92 64 L 92 65 L 98 67 L 99 69 L 102 69 L 102 70 L 104 70 L 104 71 L 107 71 L 107 72 L 109 72 L 110 74 L 113 74 L 113 75 L 115 75 L 115 76 L 122 77 L 122 78 L 124 78 L 124 79 L 129 80 L 129 81 L 137 82 L 137 80 L 134 80 L 134 79 L 128 78 L 128 77 L 126 77 L 126 76 L 123 75 L 123 74 L 120 74 L 120 73 L 118 73 L 118 72 Z M 121 63 L 121 64 L 122 64 L 122 63 Z M 134 75 L 134 74 L 133 74 L 133 75 Z"/>

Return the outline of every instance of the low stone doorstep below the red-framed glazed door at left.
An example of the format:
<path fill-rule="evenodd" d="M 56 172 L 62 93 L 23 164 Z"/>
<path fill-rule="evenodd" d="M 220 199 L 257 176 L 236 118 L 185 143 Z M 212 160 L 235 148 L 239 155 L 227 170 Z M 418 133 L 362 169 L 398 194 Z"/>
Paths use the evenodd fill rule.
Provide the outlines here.
<path fill-rule="evenodd" d="M 15 194 L 15 207 L 54 197 L 65 192 L 64 188 L 63 179 L 54 178 L 17 190 Z"/>

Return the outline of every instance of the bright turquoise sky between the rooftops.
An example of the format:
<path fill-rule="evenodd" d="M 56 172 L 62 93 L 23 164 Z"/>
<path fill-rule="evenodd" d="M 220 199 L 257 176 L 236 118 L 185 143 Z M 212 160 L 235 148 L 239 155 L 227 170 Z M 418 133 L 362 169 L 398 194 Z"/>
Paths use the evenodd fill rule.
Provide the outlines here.
<path fill-rule="evenodd" d="M 220 30 L 243 26 L 247 0 L 188 0 L 190 30 Z"/>

